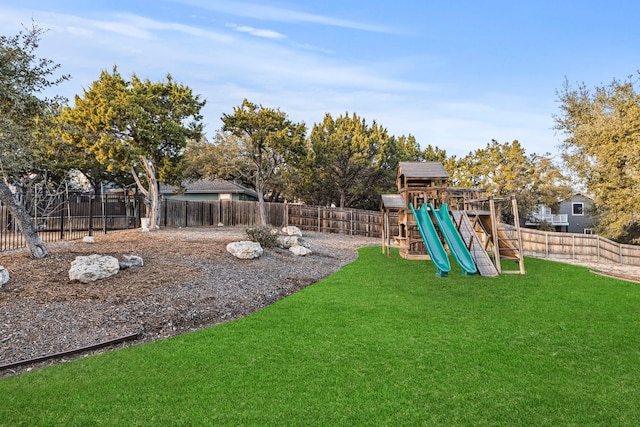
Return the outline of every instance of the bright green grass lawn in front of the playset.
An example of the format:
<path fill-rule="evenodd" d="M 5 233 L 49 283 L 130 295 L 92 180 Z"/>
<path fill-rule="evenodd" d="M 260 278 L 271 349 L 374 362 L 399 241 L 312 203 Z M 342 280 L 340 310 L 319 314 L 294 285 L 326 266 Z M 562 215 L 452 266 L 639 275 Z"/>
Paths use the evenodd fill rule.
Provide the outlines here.
<path fill-rule="evenodd" d="M 0 380 L 0 425 L 638 425 L 640 286 L 364 248 L 247 318 Z"/>

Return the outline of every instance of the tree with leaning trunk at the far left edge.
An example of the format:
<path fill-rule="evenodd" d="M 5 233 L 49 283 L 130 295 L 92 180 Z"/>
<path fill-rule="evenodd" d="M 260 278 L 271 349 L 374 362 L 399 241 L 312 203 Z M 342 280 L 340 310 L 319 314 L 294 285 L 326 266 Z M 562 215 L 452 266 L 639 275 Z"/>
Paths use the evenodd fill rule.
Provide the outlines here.
<path fill-rule="evenodd" d="M 66 75 L 52 78 L 59 65 L 36 57 L 43 33 L 32 25 L 16 36 L 0 36 L 0 166 L 3 173 L 0 201 L 16 218 L 33 258 L 47 256 L 48 250 L 8 182 L 15 180 L 20 172 L 34 168 L 34 135 L 47 126 L 51 111 L 63 101 L 38 95 L 69 78 Z"/>

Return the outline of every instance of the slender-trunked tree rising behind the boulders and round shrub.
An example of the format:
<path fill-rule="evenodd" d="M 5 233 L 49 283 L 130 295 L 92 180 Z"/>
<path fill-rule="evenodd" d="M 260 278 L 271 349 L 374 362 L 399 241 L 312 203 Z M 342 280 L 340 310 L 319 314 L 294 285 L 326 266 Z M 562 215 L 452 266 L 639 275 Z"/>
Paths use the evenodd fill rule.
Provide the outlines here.
<path fill-rule="evenodd" d="M 233 141 L 226 140 L 235 143 L 229 144 L 229 150 L 235 150 L 231 154 L 240 160 L 235 172 L 246 174 L 247 163 L 253 166 L 252 187 L 258 193 L 262 225 L 267 225 L 265 191 L 284 167 L 304 156 L 306 125 L 292 122 L 279 109 L 265 108 L 246 99 L 233 108 L 233 114 L 223 114 L 222 122 L 222 131 L 235 137 Z"/>

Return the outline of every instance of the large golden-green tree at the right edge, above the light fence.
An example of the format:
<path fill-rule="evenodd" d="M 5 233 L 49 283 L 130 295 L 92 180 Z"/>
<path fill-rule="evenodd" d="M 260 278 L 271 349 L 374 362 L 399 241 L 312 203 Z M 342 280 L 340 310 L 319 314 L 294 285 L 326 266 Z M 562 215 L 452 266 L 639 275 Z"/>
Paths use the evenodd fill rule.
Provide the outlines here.
<path fill-rule="evenodd" d="M 594 196 L 597 231 L 621 242 L 640 239 L 640 94 L 637 79 L 613 80 L 593 90 L 565 81 L 558 92 L 563 158 Z"/>

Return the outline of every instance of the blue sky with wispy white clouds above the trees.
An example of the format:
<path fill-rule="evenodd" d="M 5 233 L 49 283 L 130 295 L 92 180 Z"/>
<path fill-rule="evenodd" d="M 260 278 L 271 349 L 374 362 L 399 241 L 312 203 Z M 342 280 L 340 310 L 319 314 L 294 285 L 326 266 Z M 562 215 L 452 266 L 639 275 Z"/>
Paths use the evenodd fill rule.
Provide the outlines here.
<path fill-rule="evenodd" d="M 244 98 L 309 129 L 356 113 L 465 155 L 519 140 L 556 153 L 556 91 L 640 68 L 640 2 L 564 0 L 2 0 L 0 34 L 49 31 L 38 54 L 72 99 L 114 65 L 201 94 L 206 130 Z"/>

